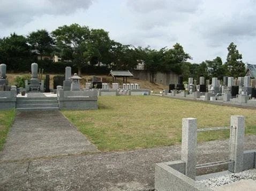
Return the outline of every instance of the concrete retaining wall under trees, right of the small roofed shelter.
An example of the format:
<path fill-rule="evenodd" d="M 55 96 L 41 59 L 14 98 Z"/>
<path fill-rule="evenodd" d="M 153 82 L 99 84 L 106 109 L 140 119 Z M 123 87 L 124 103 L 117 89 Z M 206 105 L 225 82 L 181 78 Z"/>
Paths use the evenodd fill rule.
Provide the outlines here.
<path fill-rule="evenodd" d="M 150 74 L 147 70 L 132 70 L 132 74 L 134 78 L 138 78 L 140 80 L 150 81 Z M 169 84 L 177 84 L 178 83 L 178 74 L 175 73 L 161 73 L 157 72 L 155 74 L 155 83 L 169 85 Z"/>

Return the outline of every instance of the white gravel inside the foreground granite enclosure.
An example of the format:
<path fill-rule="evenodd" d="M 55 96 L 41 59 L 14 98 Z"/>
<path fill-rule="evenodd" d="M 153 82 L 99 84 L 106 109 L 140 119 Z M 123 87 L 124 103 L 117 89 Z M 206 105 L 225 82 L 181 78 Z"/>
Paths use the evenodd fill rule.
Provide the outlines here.
<path fill-rule="evenodd" d="M 256 169 L 246 170 L 238 173 L 227 174 L 227 176 L 221 176 L 217 178 L 210 178 L 206 180 L 197 181 L 199 184 L 208 188 L 214 188 L 217 186 L 223 186 L 230 183 L 234 183 L 240 180 L 252 179 L 256 181 Z"/>

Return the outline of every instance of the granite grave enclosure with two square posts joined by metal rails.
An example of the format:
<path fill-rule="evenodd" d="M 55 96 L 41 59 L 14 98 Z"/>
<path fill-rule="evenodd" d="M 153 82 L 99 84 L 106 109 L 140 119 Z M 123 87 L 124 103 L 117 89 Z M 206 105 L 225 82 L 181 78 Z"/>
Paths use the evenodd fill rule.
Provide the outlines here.
<path fill-rule="evenodd" d="M 230 172 L 242 172 L 256 168 L 256 149 L 244 151 L 244 127 L 243 116 L 231 116 L 228 127 L 207 129 L 197 129 L 196 118 L 183 118 L 181 159 L 155 165 L 155 189 L 157 191 L 210 190 L 195 182 L 197 169 L 223 164 L 228 164 Z M 227 160 L 197 164 L 197 132 L 223 129 L 230 129 L 230 157 Z"/>

